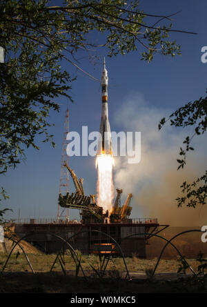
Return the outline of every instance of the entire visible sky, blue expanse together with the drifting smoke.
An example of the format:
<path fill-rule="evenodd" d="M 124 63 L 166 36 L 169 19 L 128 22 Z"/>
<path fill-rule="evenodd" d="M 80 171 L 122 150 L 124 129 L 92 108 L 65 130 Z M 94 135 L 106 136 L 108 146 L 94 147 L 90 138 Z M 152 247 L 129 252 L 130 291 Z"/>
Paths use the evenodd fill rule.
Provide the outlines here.
<path fill-rule="evenodd" d="M 195 152 L 190 153 L 186 170 L 177 171 L 177 156 L 188 130 L 169 126 L 159 132 L 157 125 L 162 117 L 180 106 L 204 97 L 206 94 L 207 63 L 201 62 L 201 48 L 207 46 L 205 0 L 143 0 L 140 7 L 149 14 L 172 14 L 173 28 L 197 32 L 197 35 L 173 33 L 171 38 L 181 45 L 181 56 L 174 58 L 155 55 L 151 63 L 140 61 L 139 51 L 117 57 L 106 57 L 108 70 L 108 109 L 112 131 L 141 132 L 141 161 L 129 166 L 126 160 L 115 161 L 115 188 L 123 188 L 124 195 L 132 192 L 132 217 L 158 217 L 162 224 L 190 226 L 204 223 L 203 209 L 189 208 L 178 211 L 175 198 L 183 179 L 194 179 L 203 175 L 206 167 L 206 137 L 195 139 Z M 103 57 L 106 50 L 97 50 L 97 63 L 88 57 L 80 60 L 83 70 L 97 79 L 101 78 Z M 80 55 L 81 57 L 81 55 Z M 62 66 L 72 75 L 74 68 L 67 62 Z M 100 84 L 77 71 L 77 80 L 72 83 L 69 103 L 70 131 L 88 132 L 99 130 L 101 119 Z M 1 175 L 1 186 L 10 195 L 6 206 L 12 208 L 7 217 L 55 218 L 61 166 L 63 123 L 67 101 L 60 97 L 59 113 L 51 112 L 50 129 L 55 135 L 56 147 L 49 143 L 37 143 L 40 150 L 29 148 L 26 161 L 15 170 Z M 190 130 L 192 132 L 192 130 Z M 87 195 L 95 194 L 97 172 L 95 157 L 70 157 L 70 167 L 77 177 L 83 177 Z M 70 179 L 70 192 L 75 190 Z M 150 191 L 150 192 L 149 192 Z M 188 215 L 189 219 L 186 219 Z M 196 215 L 196 218 L 195 218 Z M 70 217 L 78 217 L 77 210 L 70 210 Z"/>

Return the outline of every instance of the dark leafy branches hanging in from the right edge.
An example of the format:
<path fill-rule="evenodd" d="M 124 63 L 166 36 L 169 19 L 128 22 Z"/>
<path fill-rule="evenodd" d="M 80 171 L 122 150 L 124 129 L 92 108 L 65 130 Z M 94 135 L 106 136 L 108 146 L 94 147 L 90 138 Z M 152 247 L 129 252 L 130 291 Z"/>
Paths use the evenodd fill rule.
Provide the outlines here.
<path fill-rule="evenodd" d="M 193 102 L 188 102 L 185 106 L 177 109 L 173 112 L 168 119 L 163 118 L 159 122 L 159 129 L 164 126 L 164 124 L 170 121 L 171 126 L 175 127 L 187 127 L 187 126 L 195 126 L 195 132 L 193 135 L 186 137 L 184 140 L 185 148 L 180 148 L 179 155 L 180 159 L 177 159 L 179 164 L 178 170 L 180 168 L 184 168 L 186 165 L 186 155 L 190 150 L 194 150 L 193 147 L 190 146 L 193 137 L 203 135 L 206 132 L 207 128 L 207 97 L 200 98 Z M 188 207 L 197 206 L 198 204 L 204 205 L 206 204 L 207 197 L 207 170 L 201 177 L 195 179 L 193 183 L 188 184 L 184 181 L 181 184 L 181 192 L 183 192 L 183 197 L 177 197 L 177 206 L 181 207 L 186 204 Z"/>

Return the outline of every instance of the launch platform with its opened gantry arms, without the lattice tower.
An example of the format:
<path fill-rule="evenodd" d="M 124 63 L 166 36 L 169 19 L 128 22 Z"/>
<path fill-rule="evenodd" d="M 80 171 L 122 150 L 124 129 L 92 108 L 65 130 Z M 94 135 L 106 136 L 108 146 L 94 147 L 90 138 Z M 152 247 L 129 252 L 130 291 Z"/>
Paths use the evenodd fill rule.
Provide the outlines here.
<path fill-rule="evenodd" d="M 60 193 L 59 207 L 63 210 L 78 209 L 81 219 L 18 219 L 12 225 L 18 237 L 24 237 L 47 253 L 67 249 L 63 241 L 66 240 L 74 250 L 83 254 L 111 253 L 118 256 L 123 252 L 125 256 L 146 258 L 146 244 L 150 237 L 168 225 L 159 225 L 155 218 L 130 218 L 132 194 L 128 194 L 121 206 L 121 189 L 117 189 L 115 204 L 110 212 L 103 212 L 103 208 L 95 202 L 95 195 L 85 195 L 82 179 L 77 179 L 67 164 L 65 167 L 70 172 L 76 192 L 71 195 L 69 192 L 66 195 Z"/>

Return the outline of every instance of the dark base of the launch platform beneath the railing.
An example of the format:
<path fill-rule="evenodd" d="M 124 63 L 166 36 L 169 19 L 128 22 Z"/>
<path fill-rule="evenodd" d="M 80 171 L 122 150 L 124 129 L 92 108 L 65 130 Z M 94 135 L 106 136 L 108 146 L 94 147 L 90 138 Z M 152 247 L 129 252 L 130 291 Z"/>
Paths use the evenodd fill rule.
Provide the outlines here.
<path fill-rule="evenodd" d="M 110 235 L 120 244 L 125 256 L 136 254 L 139 258 L 146 258 L 144 232 L 155 231 L 158 227 L 159 224 L 16 224 L 15 233 L 18 237 L 27 236 L 25 240 L 30 244 L 50 253 L 68 248 L 53 235 L 59 235 L 67 241 L 72 235 L 81 232 L 68 242 L 72 248 L 80 250 L 83 254 L 97 253 L 97 248 L 102 251 L 103 248 L 110 247 L 114 244 L 114 241 L 106 236 Z M 128 237 L 132 234 L 135 236 Z"/>

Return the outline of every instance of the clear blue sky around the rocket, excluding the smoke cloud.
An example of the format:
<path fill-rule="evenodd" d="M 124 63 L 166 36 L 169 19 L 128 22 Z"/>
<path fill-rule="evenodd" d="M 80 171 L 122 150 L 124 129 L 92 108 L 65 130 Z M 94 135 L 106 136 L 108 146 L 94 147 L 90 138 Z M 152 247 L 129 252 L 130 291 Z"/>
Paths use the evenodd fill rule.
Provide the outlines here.
<path fill-rule="evenodd" d="M 157 112 L 161 110 L 161 118 L 162 115 L 168 116 L 170 111 L 188 101 L 204 96 L 207 88 L 207 63 L 201 63 L 201 47 L 207 46 L 207 2 L 205 0 L 144 0 L 140 1 L 140 7 L 149 14 L 171 14 L 181 10 L 173 17 L 173 28 L 198 34 L 173 33 L 171 37 L 181 45 L 181 56 L 174 58 L 156 55 L 151 63 L 146 63 L 140 61 L 139 51 L 131 52 L 124 57 L 106 57 L 109 77 L 108 108 L 110 126 L 113 131 L 128 128 L 128 123 L 124 118 L 117 121 L 116 117 L 120 109 L 124 108 L 126 97 L 132 93 L 142 95 L 149 109 L 155 108 Z M 83 58 L 80 66 L 90 75 L 100 79 L 106 50 L 97 52 L 100 57 L 99 63 L 93 65 L 87 58 Z M 62 65 L 69 72 L 75 73 L 74 68 L 68 63 L 63 62 Z M 78 72 L 77 80 L 72 83 L 70 95 L 75 101 L 69 103 L 70 130 L 81 132 L 82 126 L 88 126 L 89 132 L 99 130 L 101 117 L 99 83 L 83 75 L 82 72 Z M 61 104 L 61 111 L 52 112 L 50 115 L 50 122 L 55 123 L 55 127 L 50 131 L 55 135 L 56 148 L 53 149 L 49 144 L 41 143 L 40 150 L 28 149 L 25 163 L 23 162 L 15 170 L 10 170 L 6 176 L 1 175 L 1 186 L 10 195 L 6 204 L 13 209 L 8 217 L 17 217 L 19 208 L 22 218 L 54 218 L 57 215 L 63 121 L 67 103 L 66 99 L 61 97 L 57 101 Z M 136 108 L 136 112 L 138 116 L 139 108 Z M 139 129 L 141 131 L 142 127 L 139 126 Z M 155 126 L 156 129 L 157 126 Z M 170 131 L 166 128 L 166 131 L 161 132 L 165 139 L 168 139 Z M 37 142 L 39 141 L 37 139 Z M 177 148 L 180 145 L 178 141 Z M 201 150 L 205 150 L 205 147 L 201 147 Z M 86 193 L 95 193 L 95 158 L 70 157 L 70 167 L 75 170 L 78 177 L 85 179 L 83 184 Z M 72 180 L 70 180 L 70 191 L 73 190 Z M 139 194 L 138 190 L 137 194 Z M 135 207 L 139 206 L 132 204 Z M 70 212 L 71 217 L 77 215 L 75 210 L 70 210 Z M 136 217 L 138 211 L 134 210 L 134 212 L 132 215 Z"/>

